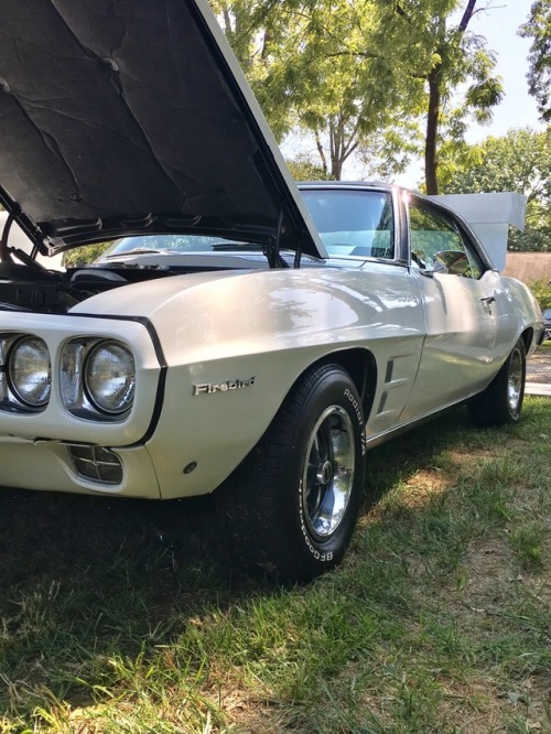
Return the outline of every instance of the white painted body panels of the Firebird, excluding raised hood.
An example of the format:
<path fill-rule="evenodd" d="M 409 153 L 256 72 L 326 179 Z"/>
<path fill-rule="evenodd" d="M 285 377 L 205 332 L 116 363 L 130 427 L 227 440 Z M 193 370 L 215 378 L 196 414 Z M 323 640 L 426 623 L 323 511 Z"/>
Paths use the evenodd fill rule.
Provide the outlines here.
<path fill-rule="evenodd" d="M 400 196 L 393 199 L 400 206 Z M 117 285 L 66 315 L 2 315 L 3 332 L 46 342 L 54 377 L 61 349 L 75 335 L 119 339 L 136 358 L 136 398 L 121 421 L 68 413 L 58 376 L 45 410 L 0 410 L 6 486 L 162 498 L 209 493 L 253 449 L 290 387 L 320 360 L 354 355 L 370 369 L 370 445 L 477 395 L 521 334 L 529 352 L 541 334 L 529 290 L 490 268 L 474 280 L 350 256 L 335 267 L 328 260 L 276 270 L 239 252 L 122 259 L 142 268 L 170 260 L 198 272 L 165 278 L 162 287 L 158 279 Z M 206 260 L 220 270 L 202 271 Z M 98 278 L 101 266 L 108 262 L 96 265 Z M 489 306 L 480 300 L 488 296 L 495 299 Z M 109 485 L 76 474 L 69 446 L 78 443 L 115 451 L 122 481 Z M 191 464 L 196 468 L 184 473 Z"/>

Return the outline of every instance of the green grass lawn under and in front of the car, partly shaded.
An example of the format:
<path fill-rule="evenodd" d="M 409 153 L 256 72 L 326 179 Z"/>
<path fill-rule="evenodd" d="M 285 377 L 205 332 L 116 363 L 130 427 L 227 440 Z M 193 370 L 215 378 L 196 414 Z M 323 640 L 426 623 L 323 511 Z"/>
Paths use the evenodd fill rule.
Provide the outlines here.
<path fill-rule="evenodd" d="M 0 732 L 551 733 L 551 401 L 369 453 L 335 572 L 279 587 L 208 503 L 0 495 Z"/>

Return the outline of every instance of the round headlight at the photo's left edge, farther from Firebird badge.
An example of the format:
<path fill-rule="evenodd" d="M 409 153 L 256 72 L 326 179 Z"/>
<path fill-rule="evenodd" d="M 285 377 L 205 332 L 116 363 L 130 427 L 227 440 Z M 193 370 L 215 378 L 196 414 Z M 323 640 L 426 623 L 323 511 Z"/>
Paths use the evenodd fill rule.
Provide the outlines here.
<path fill-rule="evenodd" d="M 46 343 L 36 336 L 15 342 L 8 358 L 10 386 L 23 404 L 42 408 L 50 400 L 52 365 Z"/>

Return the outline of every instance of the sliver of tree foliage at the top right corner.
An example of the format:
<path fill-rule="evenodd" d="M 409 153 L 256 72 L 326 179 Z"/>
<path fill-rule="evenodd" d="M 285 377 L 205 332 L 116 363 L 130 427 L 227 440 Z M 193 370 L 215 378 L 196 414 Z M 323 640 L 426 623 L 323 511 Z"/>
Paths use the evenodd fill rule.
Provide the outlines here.
<path fill-rule="evenodd" d="M 551 121 L 551 0 L 536 0 L 519 34 L 531 37 L 528 89 L 536 97 L 541 119 Z"/>

